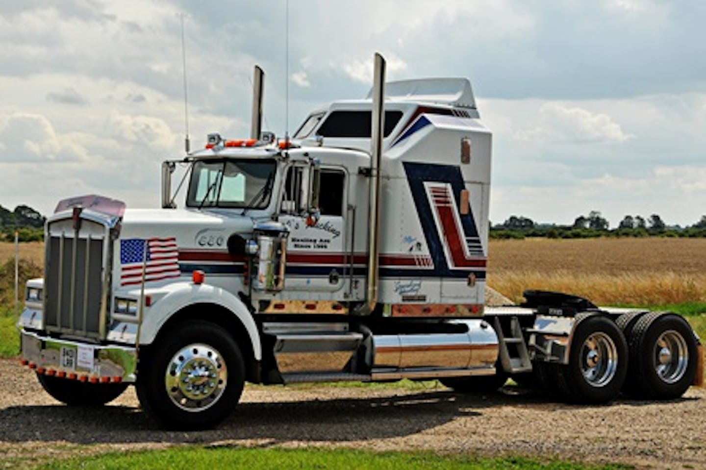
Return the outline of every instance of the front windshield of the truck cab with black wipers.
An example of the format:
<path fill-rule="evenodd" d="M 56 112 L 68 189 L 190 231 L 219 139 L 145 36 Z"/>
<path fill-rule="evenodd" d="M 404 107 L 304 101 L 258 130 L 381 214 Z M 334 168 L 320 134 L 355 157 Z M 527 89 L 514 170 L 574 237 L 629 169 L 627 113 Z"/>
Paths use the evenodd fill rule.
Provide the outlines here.
<path fill-rule="evenodd" d="M 277 165 L 273 159 L 213 160 L 193 164 L 189 207 L 267 207 Z"/>

